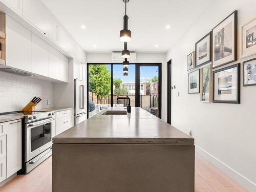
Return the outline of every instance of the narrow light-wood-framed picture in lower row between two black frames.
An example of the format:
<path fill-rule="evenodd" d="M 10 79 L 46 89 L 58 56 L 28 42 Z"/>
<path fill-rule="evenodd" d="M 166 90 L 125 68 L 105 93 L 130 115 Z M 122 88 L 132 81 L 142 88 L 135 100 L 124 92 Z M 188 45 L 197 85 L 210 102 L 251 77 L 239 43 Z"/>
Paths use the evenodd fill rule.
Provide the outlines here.
<path fill-rule="evenodd" d="M 200 69 L 200 99 L 202 102 L 211 102 L 211 65 Z"/>

